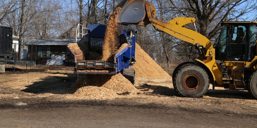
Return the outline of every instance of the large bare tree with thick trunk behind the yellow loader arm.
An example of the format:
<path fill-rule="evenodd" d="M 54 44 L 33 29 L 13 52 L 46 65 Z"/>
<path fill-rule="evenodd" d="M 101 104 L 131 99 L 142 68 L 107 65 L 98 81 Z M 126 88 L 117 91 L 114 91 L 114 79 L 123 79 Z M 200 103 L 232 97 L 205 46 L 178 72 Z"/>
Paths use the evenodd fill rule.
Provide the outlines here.
<path fill-rule="evenodd" d="M 199 33 L 211 39 L 219 33 L 221 21 L 244 20 L 245 14 L 256 9 L 255 0 L 183 0 L 181 3 L 170 0 L 175 11 L 183 16 L 196 17 Z"/>

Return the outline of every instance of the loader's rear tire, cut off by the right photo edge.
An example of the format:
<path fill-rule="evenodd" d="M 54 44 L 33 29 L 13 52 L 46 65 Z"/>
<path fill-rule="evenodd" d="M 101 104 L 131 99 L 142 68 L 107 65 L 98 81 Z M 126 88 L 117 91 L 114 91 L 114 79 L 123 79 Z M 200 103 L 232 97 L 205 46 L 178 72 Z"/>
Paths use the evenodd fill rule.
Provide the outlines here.
<path fill-rule="evenodd" d="M 257 99 L 257 71 L 253 72 L 248 82 L 248 91 Z"/>

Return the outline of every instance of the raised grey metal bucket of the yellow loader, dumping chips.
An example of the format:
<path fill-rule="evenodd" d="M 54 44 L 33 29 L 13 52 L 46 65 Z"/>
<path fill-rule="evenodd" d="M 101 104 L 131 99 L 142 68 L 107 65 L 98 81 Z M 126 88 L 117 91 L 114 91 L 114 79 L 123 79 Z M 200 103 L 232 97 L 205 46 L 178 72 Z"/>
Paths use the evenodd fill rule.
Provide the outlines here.
<path fill-rule="evenodd" d="M 121 9 L 118 22 L 144 26 L 142 22 L 145 16 L 144 0 L 128 0 Z"/>

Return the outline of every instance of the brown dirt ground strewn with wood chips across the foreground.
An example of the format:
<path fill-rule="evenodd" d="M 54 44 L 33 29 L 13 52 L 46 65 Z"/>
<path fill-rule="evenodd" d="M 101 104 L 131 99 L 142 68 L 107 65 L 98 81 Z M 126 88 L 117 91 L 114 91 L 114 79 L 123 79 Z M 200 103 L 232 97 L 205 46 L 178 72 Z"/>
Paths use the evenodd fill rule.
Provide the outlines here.
<path fill-rule="evenodd" d="M 185 98 L 170 79 L 138 78 L 137 94 L 78 98 L 72 67 L 7 67 L 0 74 L 1 127 L 257 127 L 257 100 L 247 91 L 210 87 L 202 98 Z"/>

